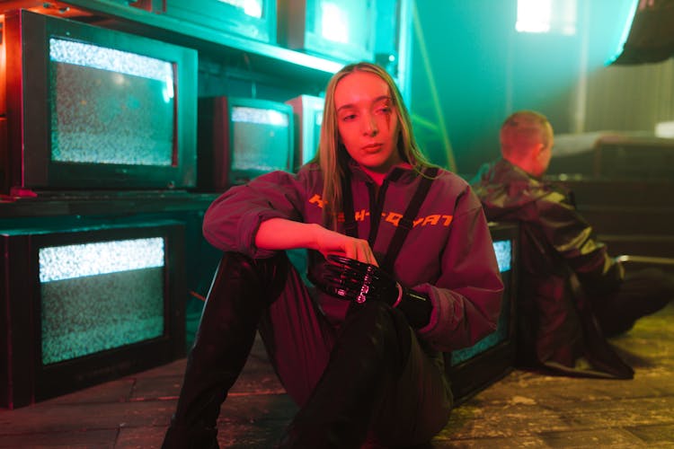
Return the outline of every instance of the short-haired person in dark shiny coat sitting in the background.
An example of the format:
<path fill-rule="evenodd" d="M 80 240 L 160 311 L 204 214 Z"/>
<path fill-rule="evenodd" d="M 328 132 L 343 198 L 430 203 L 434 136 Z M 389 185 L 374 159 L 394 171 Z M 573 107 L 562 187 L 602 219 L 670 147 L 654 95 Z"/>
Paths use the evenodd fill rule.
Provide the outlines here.
<path fill-rule="evenodd" d="M 674 281 L 659 269 L 625 276 L 571 192 L 543 180 L 553 144 L 544 115 L 515 112 L 501 127 L 501 159 L 471 181 L 489 220 L 520 225 L 519 364 L 629 379 L 606 338 L 668 304 Z"/>

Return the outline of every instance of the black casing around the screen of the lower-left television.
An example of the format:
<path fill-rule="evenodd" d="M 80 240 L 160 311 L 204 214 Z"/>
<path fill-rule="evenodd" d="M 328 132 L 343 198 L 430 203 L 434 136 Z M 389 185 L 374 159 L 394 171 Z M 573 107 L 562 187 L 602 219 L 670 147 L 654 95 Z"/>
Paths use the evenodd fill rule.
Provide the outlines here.
<path fill-rule="evenodd" d="M 0 232 L 0 249 L 3 254 L 0 259 L 0 281 L 4 286 L 0 292 L 0 407 L 20 408 L 184 357 L 186 298 L 184 233 L 184 224 L 173 220 L 149 220 L 120 225 L 92 222 L 83 228 L 75 229 L 68 229 L 65 226 L 40 226 Z M 59 354 L 58 357 L 63 359 L 45 362 L 42 355 L 43 284 L 40 283 L 40 248 L 144 238 L 161 238 L 164 242 L 164 274 L 161 276 L 163 280 L 155 281 L 163 284 L 161 289 L 164 318 L 161 335 L 157 332 L 151 338 L 138 339 L 111 348 L 107 348 L 111 345 L 104 342 L 104 350 L 84 355 Z M 136 273 L 138 271 L 140 270 Z M 131 273 L 131 276 L 136 274 Z M 157 279 L 156 271 L 151 276 Z M 100 305 L 108 304 L 103 300 L 96 303 L 97 298 L 104 297 L 103 290 L 110 286 L 97 282 L 109 279 L 110 277 L 105 276 L 75 277 L 73 289 L 68 291 L 74 291 L 75 287 L 81 288 L 83 285 L 89 286 L 84 292 L 80 290 L 73 293 L 90 298 L 89 303 L 82 304 L 86 313 L 91 313 L 92 309 L 96 311 L 95 308 L 99 306 L 110 308 L 107 305 Z M 142 304 L 145 297 L 139 294 L 135 301 Z M 53 300 L 52 296 L 50 301 Z M 124 304 L 133 304 L 134 301 L 115 297 L 112 303 L 117 304 L 118 300 L 120 308 L 123 308 Z M 114 311 L 102 308 L 100 313 L 114 313 Z M 123 316 L 129 316 L 129 313 L 136 316 L 133 310 L 124 313 Z M 101 325 L 96 321 L 94 320 L 92 324 L 94 332 L 96 326 Z M 80 324 L 68 327 L 69 324 L 65 321 L 59 322 L 58 328 L 68 331 L 81 329 Z M 83 335 L 84 339 L 87 334 Z M 116 332 L 116 335 L 120 335 L 121 339 L 128 338 L 123 333 Z M 98 343 L 100 341 L 97 341 Z"/>

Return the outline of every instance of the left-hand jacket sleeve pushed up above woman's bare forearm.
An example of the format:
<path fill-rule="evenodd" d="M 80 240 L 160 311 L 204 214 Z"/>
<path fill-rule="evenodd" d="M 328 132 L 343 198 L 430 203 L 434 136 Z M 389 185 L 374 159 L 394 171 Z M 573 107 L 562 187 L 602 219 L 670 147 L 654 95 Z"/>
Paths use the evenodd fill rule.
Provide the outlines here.
<path fill-rule="evenodd" d="M 303 179 L 288 172 L 270 172 L 226 190 L 208 207 L 203 220 L 206 240 L 221 251 L 268 258 L 275 251 L 255 246 L 260 224 L 270 218 L 302 220 Z"/>

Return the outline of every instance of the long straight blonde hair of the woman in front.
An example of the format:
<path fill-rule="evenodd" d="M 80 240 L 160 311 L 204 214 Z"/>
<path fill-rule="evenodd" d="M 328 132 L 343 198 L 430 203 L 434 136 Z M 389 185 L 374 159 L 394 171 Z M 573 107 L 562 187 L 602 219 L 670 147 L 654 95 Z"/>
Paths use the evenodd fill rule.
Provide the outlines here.
<path fill-rule="evenodd" d="M 391 106 L 398 118 L 398 152 L 406 163 L 410 163 L 416 172 L 421 172 L 430 165 L 421 154 L 412 133 L 412 120 L 404 105 L 403 97 L 395 85 L 391 75 L 375 64 L 359 62 L 341 68 L 331 78 L 325 90 L 325 106 L 321 138 L 318 145 L 317 162 L 323 172 L 324 224 L 328 228 L 337 227 L 337 215 L 342 212 L 343 197 L 342 180 L 349 172 L 350 155 L 341 144 L 339 129 L 337 128 L 337 110 L 334 104 L 334 92 L 342 78 L 353 72 L 366 72 L 377 75 L 387 85 L 391 94 Z"/>

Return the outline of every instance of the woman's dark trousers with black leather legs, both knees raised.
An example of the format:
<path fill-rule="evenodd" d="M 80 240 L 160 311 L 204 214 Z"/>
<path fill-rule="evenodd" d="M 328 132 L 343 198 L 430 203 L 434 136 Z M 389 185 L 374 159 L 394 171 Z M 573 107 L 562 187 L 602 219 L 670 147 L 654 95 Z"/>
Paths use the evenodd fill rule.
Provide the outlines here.
<path fill-rule="evenodd" d="M 300 406 L 281 447 L 417 444 L 447 422 L 442 369 L 402 313 L 371 302 L 339 328 L 311 301 L 284 253 L 223 257 L 188 358 L 164 447 L 217 447 L 217 416 L 260 330 L 271 363 Z"/>

